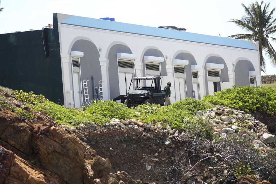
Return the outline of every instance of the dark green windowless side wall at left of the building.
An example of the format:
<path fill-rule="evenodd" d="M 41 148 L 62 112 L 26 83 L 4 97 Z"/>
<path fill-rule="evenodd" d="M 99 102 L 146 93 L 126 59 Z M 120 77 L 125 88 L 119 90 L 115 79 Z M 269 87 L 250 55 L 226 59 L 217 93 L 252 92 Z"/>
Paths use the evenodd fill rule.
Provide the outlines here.
<path fill-rule="evenodd" d="M 64 104 L 57 16 L 53 15 L 54 28 L 46 30 L 49 57 L 41 30 L 0 34 L 0 85 L 41 93 Z"/>

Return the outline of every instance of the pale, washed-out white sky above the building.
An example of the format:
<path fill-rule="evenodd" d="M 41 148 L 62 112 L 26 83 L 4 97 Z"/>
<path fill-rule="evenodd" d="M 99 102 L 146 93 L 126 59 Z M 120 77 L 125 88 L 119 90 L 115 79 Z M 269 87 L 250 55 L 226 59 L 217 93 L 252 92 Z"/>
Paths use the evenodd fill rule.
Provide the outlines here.
<path fill-rule="evenodd" d="M 184 27 L 187 32 L 227 37 L 246 33 L 230 19 L 244 15 L 241 3 L 253 0 L 1 0 L 0 34 L 29 29 L 38 30 L 53 24 L 53 13 L 90 18 L 115 18 L 115 21 L 145 26 Z M 276 1 L 266 1 L 271 9 Z M 274 13 L 276 18 L 276 11 Z M 276 35 L 274 35 L 276 37 Z M 276 49 L 276 43 L 272 43 Z M 267 60 L 266 74 L 276 74 Z M 262 73 L 264 75 L 264 73 Z"/>

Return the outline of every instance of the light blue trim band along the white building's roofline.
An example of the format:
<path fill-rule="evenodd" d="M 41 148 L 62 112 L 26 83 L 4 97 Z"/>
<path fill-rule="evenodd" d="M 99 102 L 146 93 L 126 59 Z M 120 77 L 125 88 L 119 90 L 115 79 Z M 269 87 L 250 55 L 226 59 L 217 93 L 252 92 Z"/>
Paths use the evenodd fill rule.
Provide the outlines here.
<path fill-rule="evenodd" d="M 164 28 L 156 28 L 149 26 L 141 26 L 136 24 L 128 24 L 116 21 L 101 20 L 87 17 L 70 16 L 63 20 L 62 24 L 75 26 L 83 26 L 90 28 L 98 28 L 104 30 L 112 30 L 118 32 L 127 32 L 133 34 L 141 34 L 154 37 L 162 37 L 183 41 L 192 41 L 197 43 L 207 43 L 212 45 L 222 45 L 227 47 L 236 47 L 242 49 L 257 50 L 249 41 L 231 39 L 225 37 L 216 37 L 205 34 L 197 34 L 191 32 L 183 32 Z"/>

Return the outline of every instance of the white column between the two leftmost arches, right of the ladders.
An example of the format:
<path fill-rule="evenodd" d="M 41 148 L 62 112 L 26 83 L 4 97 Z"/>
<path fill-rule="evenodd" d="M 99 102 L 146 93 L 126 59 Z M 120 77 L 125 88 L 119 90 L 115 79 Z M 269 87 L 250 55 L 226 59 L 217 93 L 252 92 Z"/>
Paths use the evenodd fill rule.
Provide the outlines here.
<path fill-rule="evenodd" d="M 104 57 L 99 57 L 99 61 L 101 65 L 101 80 L 102 80 L 104 100 L 109 100 L 110 91 L 109 91 L 109 78 L 108 78 L 108 59 Z"/>

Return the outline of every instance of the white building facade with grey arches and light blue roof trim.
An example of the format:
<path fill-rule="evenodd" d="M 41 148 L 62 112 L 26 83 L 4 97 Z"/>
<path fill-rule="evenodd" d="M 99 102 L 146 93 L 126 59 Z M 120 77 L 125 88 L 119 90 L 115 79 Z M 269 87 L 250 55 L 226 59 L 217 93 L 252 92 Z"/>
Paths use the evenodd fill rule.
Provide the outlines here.
<path fill-rule="evenodd" d="M 93 99 L 92 75 L 105 100 L 126 94 L 134 76 L 162 76 L 163 87 L 170 81 L 172 103 L 261 86 L 258 43 L 65 14 L 57 21 L 68 108 L 85 105 L 84 80 Z"/>

